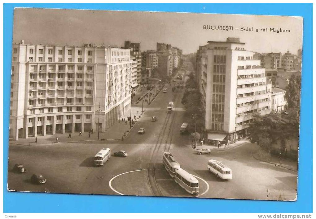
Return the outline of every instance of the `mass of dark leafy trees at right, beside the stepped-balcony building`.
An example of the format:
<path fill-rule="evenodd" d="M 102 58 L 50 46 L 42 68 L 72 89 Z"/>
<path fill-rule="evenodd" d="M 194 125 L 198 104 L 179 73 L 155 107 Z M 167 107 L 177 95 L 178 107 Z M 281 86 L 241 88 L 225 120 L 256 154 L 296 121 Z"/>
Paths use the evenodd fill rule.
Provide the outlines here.
<path fill-rule="evenodd" d="M 266 154 L 297 159 L 299 138 L 301 76 L 292 75 L 286 87 L 288 109 L 268 115 L 253 114 L 248 128 L 249 139 Z M 265 155 L 266 156 L 266 155 Z"/>

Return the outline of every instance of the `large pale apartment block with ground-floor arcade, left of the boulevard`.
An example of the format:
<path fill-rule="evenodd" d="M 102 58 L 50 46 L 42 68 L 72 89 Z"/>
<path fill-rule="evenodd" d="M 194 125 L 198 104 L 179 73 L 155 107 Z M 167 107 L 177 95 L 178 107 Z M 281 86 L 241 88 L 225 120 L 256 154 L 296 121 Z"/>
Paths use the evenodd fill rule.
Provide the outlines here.
<path fill-rule="evenodd" d="M 130 49 L 13 44 L 10 138 L 106 131 L 130 109 L 131 73 Z"/>

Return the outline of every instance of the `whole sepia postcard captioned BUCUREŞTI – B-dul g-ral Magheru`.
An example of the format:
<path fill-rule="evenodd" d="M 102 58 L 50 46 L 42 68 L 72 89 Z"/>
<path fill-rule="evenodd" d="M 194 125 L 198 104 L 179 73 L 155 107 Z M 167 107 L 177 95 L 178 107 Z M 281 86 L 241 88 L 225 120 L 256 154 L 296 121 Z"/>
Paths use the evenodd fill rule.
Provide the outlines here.
<path fill-rule="evenodd" d="M 297 200 L 302 38 L 294 16 L 15 8 L 7 189 Z"/>

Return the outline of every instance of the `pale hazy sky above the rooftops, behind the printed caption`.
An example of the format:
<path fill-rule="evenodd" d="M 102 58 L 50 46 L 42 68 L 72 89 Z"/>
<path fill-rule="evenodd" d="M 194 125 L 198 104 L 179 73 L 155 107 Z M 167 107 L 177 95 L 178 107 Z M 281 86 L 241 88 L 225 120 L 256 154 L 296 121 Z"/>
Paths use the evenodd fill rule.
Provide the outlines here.
<path fill-rule="evenodd" d="M 233 26 L 239 30 L 204 30 L 204 25 Z M 241 26 L 252 27 L 253 31 L 240 31 Z M 256 32 L 257 28 L 267 31 Z M 270 28 L 290 32 L 270 32 Z M 207 41 L 239 37 L 250 51 L 289 50 L 297 54 L 302 48 L 302 32 L 301 17 L 15 8 L 13 42 L 123 47 L 128 40 L 141 43 L 141 51 L 155 49 L 157 42 L 164 42 L 188 54 L 197 52 Z"/>

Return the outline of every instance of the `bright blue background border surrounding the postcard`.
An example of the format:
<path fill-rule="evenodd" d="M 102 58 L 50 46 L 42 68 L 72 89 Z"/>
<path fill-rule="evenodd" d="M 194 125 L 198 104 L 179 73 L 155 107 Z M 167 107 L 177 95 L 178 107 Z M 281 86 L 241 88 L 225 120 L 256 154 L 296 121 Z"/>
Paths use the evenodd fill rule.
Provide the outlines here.
<path fill-rule="evenodd" d="M 9 99 L 15 7 L 265 14 L 304 17 L 298 197 L 295 202 L 40 194 L 7 191 Z M 204 8 L 205 7 L 205 8 Z M 3 4 L 3 212 L 312 212 L 313 211 L 312 3 L 4 3 Z M 18 204 L 17 204 L 18 203 Z"/>

